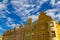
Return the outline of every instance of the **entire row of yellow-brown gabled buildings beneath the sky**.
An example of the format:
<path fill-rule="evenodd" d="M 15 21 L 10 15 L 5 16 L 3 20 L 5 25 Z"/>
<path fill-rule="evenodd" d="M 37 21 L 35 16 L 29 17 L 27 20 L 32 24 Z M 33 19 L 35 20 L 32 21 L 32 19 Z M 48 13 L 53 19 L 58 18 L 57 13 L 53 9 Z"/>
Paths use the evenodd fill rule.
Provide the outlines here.
<path fill-rule="evenodd" d="M 60 24 L 41 12 L 36 22 L 29 18 L 27 25 L 6 31 L 3 40 L 60 40 Z"/>

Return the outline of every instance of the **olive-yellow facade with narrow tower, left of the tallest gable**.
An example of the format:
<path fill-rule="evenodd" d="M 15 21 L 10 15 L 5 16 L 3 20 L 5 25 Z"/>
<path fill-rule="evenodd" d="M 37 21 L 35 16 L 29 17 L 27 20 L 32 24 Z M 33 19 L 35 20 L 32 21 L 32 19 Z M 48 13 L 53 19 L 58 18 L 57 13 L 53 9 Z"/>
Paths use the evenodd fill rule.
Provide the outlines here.
<path fill-rule="evenodd" d="M 24 40 L 34 40 L 34 29 L 32 19 L 29 18 L 24 28 Z"/>

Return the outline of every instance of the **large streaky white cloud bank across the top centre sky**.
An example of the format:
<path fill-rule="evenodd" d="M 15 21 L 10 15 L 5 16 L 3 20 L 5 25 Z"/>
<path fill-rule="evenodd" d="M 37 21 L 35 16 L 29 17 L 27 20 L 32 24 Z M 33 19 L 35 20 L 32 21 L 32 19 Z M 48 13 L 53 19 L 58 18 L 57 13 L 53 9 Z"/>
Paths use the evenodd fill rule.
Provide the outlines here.
<path fill-rule="evenodd" d="M 37 0 L 37 3 L 39 3 L 39 5 L 29 4 L 28 1 L 29 0 L 12 0 L 11 1 L 11 3 L 13 4 L 14 9 L 16 9 L 14 11 L 16 15 L 18 15 L 20 17 L 22 15 L 22 16 L 25 17 L 25 15 L 29 14 L 29 12 L 31 12 L 31 11 L 33 11 L 33 13 L 34 13 L 34 12 L 36 12 L 41 7 L 41 5 L 44 2 L 47 2 L 48 0 Z M 31 2 L 33 2 L 33 0 L 31 0 Z M 34 8 L 34 6 L 36 6 L 36 8 Z M 27 8 L 29 8 L 29 7 L 31 9 L 27 10 Z"/>

